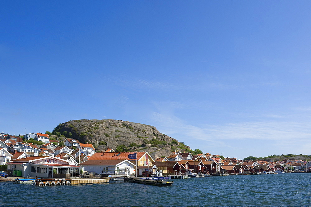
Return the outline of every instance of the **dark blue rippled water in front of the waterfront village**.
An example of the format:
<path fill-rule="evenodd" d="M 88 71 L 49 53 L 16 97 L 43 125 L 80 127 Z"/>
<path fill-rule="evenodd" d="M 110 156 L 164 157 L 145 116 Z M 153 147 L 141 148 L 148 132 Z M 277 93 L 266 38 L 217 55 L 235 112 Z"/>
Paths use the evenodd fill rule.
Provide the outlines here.
<path fill-rule="evenodd" d="M 169 187 L 130 182 L 37 187 L 0 182 L 0 206 L 311 205 L 311 173 L 172 180 Z"/>

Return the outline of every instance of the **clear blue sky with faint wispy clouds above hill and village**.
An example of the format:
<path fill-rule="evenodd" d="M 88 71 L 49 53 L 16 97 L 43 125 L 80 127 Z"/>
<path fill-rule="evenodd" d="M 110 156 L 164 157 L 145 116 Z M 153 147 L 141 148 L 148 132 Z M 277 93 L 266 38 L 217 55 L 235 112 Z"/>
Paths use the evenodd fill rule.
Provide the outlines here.
<path fill-rule="evenodd" d="M 311 148 L 310 1 L 1 1 L 0 131 L 155 126 L 243 159 Z"/>

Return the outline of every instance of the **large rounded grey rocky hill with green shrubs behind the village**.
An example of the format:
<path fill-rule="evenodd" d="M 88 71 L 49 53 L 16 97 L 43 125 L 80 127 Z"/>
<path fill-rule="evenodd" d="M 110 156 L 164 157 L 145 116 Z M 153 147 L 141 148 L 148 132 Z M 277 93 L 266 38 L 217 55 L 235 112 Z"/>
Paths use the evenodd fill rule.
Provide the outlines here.
<path fill-rule="evenodd" d="M 98 147 L 98 150 L 147 151 L 153 158 L 169 156 L 175 150 L 190 150 L 153 126 L 114 119 L 72 120 L 59 124 L 52 133 L 92 143 L 96 150 Z"/>

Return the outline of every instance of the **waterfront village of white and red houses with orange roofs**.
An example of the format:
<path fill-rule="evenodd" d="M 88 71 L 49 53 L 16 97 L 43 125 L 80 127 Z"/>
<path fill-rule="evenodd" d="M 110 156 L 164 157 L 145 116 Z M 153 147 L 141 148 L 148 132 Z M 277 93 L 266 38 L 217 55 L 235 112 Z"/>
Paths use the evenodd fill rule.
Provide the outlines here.
<path fill-rule="evenodd" d="M 44 142 L 35 145 L 27 140 Z M 289 169 L 311 171 L 311 161 L 276 162 L 244 161 L 209 153 L 193 155 L 174 151 L 167 157 L 152 157 L 148 152 L 95 152 L 90 143 L 67 138 L 65 146 L 50 140 L 49 134 L 30 133 L 20 136 L 0 133 L 0 165 L 8 176 L 39 178 L 93 178 L 94 176 L 195 176 L 239 175 L 284 172 Z M 50 141 L 53 141 L 50 142 Z M 290 171 L 291 171 L 290 170 Z"/>

